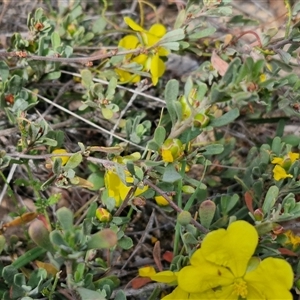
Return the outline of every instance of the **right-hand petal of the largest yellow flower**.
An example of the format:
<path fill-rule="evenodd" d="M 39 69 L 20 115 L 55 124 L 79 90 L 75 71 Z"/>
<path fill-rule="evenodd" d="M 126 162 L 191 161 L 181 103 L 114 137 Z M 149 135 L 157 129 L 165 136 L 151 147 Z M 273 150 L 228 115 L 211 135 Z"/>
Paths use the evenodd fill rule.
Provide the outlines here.
<path fill-rule="evenodd" d="M 293 286 L 294 274 L 292 267 L 284 259 L 268 257 L 255 270 L 247 273 L 244 279 L 249 287 L 247 300 L 293 299 L 289 290 Z M 259 298 L 257 294 L 260 294 Z"/>

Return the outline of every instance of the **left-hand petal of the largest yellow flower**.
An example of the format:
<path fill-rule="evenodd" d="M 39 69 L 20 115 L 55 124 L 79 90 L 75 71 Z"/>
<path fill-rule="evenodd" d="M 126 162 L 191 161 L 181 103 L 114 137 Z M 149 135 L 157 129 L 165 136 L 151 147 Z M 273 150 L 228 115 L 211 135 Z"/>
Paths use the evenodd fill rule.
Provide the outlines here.
<path fill-rule="evenodd" d="M 178 272 L 178 286 L 189 293 L 203 293 L 231 284 L 234 276 L 230 270 L 207 261 L 201 250 L 192 255 L 191 266 Z"/>

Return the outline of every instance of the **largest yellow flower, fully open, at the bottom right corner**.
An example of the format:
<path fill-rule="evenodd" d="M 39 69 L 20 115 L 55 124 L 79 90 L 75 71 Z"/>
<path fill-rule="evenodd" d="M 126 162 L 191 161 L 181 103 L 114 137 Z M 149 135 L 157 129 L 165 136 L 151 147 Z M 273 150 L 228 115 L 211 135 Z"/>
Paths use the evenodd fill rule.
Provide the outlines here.
<path fill-rule="evenodd" d="M 177 293 L 180 299 L 293 299 L 291 266 L 280 258 L 252 257 L 257 244 L 256 229 L 245 221 L 210 232 L 191 265 L 173 273 L 178 287 L 164 299 L 179 299 Z M 159 273 L 152 279 L 159 281 Z"/>

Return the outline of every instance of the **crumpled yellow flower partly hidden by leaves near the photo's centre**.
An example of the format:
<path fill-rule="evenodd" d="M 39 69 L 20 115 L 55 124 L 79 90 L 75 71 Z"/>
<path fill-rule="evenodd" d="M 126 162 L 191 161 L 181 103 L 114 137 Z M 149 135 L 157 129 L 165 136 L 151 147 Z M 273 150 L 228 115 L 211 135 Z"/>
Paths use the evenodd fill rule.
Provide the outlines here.
<path fill-rule="evenodd" d="M 133 183 L 133 177 L 127 172 L 126 182 Z M 112 170 L 106 171 L 104 175 L 105 187 L 108 191 L 108 196 L 114 198 L 116 201 L 116 207 L 119 207 L 121 203 L 125 200 L 128 192 L 130 191 L 130 186 L 126 186 L 120 177 Z M 145 192 L 148 189 L 148 186 L 143 188 L 137 188 L 134 196 L 138 196 Z"/>

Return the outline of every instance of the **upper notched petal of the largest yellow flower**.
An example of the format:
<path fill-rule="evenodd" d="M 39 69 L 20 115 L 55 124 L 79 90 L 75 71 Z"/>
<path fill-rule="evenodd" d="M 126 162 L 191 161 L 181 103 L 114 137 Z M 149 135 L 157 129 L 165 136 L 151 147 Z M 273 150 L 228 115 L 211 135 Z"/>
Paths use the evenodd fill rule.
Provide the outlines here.
<path fill-rule="evenodd" d="M 254 226 L 245 221 L 236 221 L 227 230 L 210 232 L 204 238 L 201 250 L 206 260 L 227 267 L 235 277 L 241 277 L 257 244 L 258 233 Z"/>

